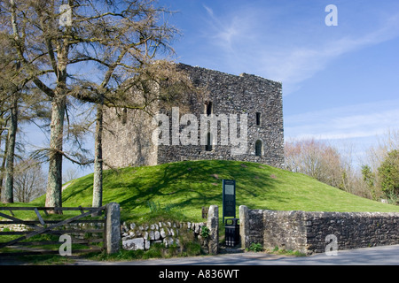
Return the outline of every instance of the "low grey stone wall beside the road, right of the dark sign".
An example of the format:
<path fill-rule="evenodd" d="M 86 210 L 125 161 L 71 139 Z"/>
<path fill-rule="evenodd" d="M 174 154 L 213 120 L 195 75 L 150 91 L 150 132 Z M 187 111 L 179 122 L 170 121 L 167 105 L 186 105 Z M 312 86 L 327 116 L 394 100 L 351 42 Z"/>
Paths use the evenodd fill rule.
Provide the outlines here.
<path fill-rule="evenodd" d="M 331 242 L 326 241 L 327 235 L 336 237 L 339 250 L 399 244 L 399 213 L 247 210 L 242 206 L 240 223 L 246 248 L 255 242 L 266 249 L 323 253 Z"/>

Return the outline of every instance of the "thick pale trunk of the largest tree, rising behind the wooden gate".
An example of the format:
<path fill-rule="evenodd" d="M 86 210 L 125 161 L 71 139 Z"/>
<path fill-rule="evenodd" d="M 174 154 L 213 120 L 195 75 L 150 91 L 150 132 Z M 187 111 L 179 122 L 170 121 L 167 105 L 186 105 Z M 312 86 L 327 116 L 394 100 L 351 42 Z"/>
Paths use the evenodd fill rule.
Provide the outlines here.
<path fill-rule="evenodd" d="M 58 94 L 51 102 L 49 176 L 47 180 L 46 206 L 62 206 L 62 142 L 66 96 Z"/>

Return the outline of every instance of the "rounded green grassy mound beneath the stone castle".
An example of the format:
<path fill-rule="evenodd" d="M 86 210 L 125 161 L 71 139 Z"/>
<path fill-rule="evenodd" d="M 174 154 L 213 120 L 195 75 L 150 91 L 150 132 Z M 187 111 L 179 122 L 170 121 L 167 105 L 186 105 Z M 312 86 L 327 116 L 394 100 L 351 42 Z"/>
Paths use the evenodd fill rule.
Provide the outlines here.
<path fill-rule="evenodd" d="M 121 204 L 122 219 L 148 218 L 153 212 L 176 212 L 201 219 L 201 207 L 219 205 L 222 180 L 236 180 L 239 205 L 250 209 L 399 212 L 399 207 L 351 195 L 300 173 L 237 161 L 184 161 L 104 172 L 103 203 Z M 91 206 L 93 175 L 66 187 L 63 206 Z M 45 196 L 32 205 L 43 205 Z"/>

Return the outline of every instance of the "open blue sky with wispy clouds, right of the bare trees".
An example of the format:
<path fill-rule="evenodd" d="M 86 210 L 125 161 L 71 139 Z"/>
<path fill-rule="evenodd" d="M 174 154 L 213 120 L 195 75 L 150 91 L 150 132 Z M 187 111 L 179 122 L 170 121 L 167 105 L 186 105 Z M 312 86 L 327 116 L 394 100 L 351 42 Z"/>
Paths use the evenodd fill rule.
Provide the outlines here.
<path fill-rule="evenodd" d="M 285 138 L 354 143 L 399 121 L 399 2 L 161 0 L 176 61 L 283 83 Z M 328 4 L 338 26 L 327 27 Z"/>

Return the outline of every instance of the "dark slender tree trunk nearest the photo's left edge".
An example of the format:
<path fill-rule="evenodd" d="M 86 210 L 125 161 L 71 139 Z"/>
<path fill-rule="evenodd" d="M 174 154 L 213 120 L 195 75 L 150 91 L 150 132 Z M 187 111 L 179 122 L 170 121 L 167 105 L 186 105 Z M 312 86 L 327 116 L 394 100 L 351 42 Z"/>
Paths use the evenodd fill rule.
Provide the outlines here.
<path fill-rule="evenodd" d="M 18 94 L 15 93 L 12 96 L 12 108 L 11 108 L 11 125 L 8 132 L 8 144 L 7 144 L 7 157 L 5 164 L 5 186 L 3 202 L 13 203 L 13 187 L 14 187 L 14 157 L 15 157 L 15 138 L 17 135 L 18 128 Z"/>

